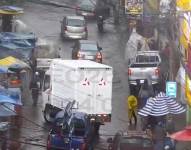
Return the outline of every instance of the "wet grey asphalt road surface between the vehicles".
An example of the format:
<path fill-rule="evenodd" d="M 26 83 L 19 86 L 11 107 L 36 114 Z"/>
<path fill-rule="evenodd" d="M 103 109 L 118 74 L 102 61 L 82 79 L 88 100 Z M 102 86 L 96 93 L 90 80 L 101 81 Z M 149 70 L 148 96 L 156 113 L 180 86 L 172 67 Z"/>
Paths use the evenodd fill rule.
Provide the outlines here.
<path fill-rule="evenodd" d="M 33 3 L 26 3 L 24 9 L 25 13 L 21 16 L 21 20 L 28 25 L 30 30 L 40 38 L 53 41 L 57 48 L 61 47 L 62 58 L 71 59 L 71 46 L 74 42 L 72 40 L 63 41 L 60 38 L 60 20 L 64 15 L 75 14 L 75 11 Z M 88 39 L 98 41 L 103 48 L 103 63 L 114 68 L 112 122 L 101 127 L 97 149 L 104 149 L 108 135 L 113 135 L 118 130 L 126 130 L 128 123 L 126 96 L 129 93 L 129 87 L 124 61 L 128 32 L 125 26 L 115 27 L 111 22 L 105 24 L 105 33 L 99 34 L 96 22 L 88 21 Z M 23 119 L 21 137 L 26 142 L 45 145 L 48 126 L 44 124 L 41 103 L 42 101 L 39 99 L 38 106 L 33 107 L 30 95 L 28 99 L 24 100 L 23 116 L 25 118 Z M 26 137 L 27 139 L 25 139 Z M 28 144 L 23 144 L 22 148 L 26 150 L 45 149 Z"/>

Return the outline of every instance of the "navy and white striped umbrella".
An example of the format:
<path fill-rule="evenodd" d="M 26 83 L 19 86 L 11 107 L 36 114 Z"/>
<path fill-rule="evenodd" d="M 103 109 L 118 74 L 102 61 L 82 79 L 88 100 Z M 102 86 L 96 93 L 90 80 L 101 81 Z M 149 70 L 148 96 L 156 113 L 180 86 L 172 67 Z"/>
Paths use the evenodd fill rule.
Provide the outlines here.
<path fill-rule="evenodd" d="M 154 98 L 149 98 L 146 105 L 139 110 L 138 114 L 141 116 L 164 116 L 167 114 L 180 114 L 185 111 L 186 109 L 175 99 L 160 92 Z"/>

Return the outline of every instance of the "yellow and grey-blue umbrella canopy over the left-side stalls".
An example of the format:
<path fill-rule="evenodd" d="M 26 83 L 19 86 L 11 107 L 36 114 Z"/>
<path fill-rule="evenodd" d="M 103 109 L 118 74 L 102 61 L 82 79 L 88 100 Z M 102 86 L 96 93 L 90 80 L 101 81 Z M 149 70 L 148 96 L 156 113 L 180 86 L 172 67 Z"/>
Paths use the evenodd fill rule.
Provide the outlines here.
<path fill-rule="evenodd" d="M 7 67 L 7 68 L 14 68 L 14 69 L 25 69 L 30 68 L 28 64 L 25 62 L 16 59 L 12 56 L 6 57 L 4 59 L 0 59 L 0 66 Z"/>

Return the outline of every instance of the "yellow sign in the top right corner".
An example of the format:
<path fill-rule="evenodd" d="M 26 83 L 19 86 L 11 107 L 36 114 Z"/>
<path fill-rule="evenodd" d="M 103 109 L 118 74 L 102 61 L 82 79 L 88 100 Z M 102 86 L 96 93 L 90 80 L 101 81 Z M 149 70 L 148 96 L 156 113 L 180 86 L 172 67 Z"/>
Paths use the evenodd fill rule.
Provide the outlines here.
<path fill-rule="evenodd" d="M 191 10 L 191 0 L 176 0 L 176 6 L 183 11 Z"/>

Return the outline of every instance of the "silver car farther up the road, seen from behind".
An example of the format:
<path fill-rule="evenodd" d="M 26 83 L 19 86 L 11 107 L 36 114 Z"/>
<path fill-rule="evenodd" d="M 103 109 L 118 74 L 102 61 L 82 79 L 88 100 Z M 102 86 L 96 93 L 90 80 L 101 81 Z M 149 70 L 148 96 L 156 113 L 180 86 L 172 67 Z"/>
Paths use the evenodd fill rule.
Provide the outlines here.
<path fill-rule="evenodd" d="M 61 21 L 61 37 L 67 39 L 87 39 L 87 24 L 83 16 L 65 16 Z"/>

